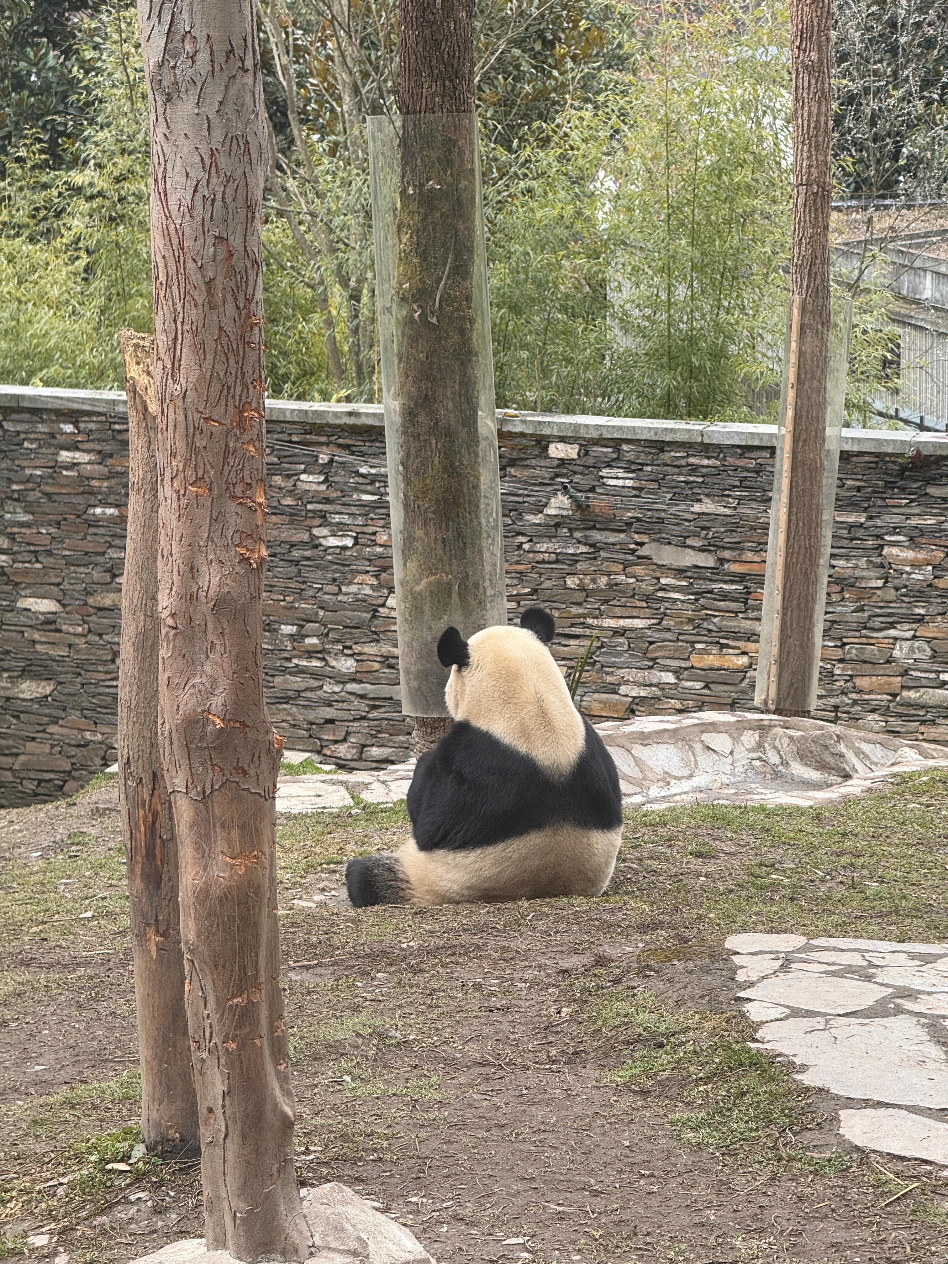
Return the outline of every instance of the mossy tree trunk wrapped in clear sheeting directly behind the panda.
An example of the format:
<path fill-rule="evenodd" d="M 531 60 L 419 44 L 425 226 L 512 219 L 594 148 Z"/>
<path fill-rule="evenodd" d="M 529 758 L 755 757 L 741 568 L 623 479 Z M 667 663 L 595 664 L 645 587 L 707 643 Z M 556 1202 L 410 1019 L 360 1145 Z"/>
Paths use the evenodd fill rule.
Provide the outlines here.
<path fill-rule="evenodd" d="M 497 622 L 495 559 L 484 530 L 479 402 L 484 354 L 475 332 L 480 249 L 474 114 L 474 0 L 398 6 L 401 183 L 394 268 L 398 321 L 402 704 L 421 753 L 450 727 L 440 632 Z M 466 115 L 468 119 L 459 119 Z M 487 332 L 489 367 L 489 331 Z M 493 413 L 493 377 L 490 377 Z M 495 463 L 495 436 L 493 460 Z M 394 526 L 394 523 L 393 523 Z M 499 609 L 503 603 L 501 560 Z M 499 616 L 506 622 L 506 613 Z M 477 623 L 478 626 L 474 626 Z"/>

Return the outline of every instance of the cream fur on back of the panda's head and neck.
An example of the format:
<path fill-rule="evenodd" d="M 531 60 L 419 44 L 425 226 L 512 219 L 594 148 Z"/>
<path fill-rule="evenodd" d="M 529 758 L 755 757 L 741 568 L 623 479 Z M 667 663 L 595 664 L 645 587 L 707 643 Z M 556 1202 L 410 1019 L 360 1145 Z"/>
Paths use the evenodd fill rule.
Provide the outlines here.
<path fill-rule="evenodd" d="M 451 667 L 445 690 L 451 715 L 565 776 L 583 753 L 585 728 L 546 645 L 517 627 L 484 628 L 466 645 L 468 662 Z"/>

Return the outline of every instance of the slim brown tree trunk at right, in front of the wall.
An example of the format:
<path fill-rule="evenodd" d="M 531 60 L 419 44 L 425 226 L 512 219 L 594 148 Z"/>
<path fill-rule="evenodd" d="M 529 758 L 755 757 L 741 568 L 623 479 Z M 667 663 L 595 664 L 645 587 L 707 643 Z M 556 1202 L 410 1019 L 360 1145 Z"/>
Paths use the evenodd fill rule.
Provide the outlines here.
<path fill-rule="evenodd" d="M 809 714 L 819 671 L 819 552 L 829 364 L 832 0 L 791 0 L 794 229 L 790 292 L 800 296 L 798 380 L 779 618 L 776 704 Z"/>

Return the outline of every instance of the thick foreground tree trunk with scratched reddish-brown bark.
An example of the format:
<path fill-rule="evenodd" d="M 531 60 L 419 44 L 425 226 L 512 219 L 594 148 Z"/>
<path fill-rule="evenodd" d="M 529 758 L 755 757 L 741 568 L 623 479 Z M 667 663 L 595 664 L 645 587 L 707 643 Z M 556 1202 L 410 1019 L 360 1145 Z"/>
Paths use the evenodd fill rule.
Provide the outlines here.
<path fill-rule="evenodd" d="M 139 0 L 152 121 L 159 724 L 181 862 L 209 1250 L 306 1259 L 263 700 L 262 200 L 253 0 Z"/>

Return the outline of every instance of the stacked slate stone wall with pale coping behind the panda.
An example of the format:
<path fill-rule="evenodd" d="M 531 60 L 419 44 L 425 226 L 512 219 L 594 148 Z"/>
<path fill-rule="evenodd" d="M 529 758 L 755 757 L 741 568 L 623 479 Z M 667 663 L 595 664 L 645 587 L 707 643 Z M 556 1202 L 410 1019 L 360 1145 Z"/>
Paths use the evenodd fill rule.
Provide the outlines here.
<path fill-rule="evenodd" d="M 380 410 L 268 406 L 265 671 L 287 747 L 407 756 Z M 115 758 L 124 398 L 0 388 L 0 803 Z M 948 741 L 948 440 L 846 432 L 818 715 Z M 752 704 L 774 431 L 501 418 L 511 617 L 593 718 Z"/>

